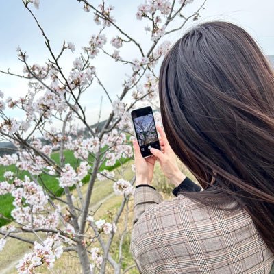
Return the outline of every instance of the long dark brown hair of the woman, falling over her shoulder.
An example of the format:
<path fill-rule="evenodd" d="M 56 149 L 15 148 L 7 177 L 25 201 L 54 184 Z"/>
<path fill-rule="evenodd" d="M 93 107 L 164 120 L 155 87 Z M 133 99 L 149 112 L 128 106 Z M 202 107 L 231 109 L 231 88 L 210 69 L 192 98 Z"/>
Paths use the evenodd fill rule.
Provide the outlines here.
<path fill-rule="evenodd" d="M 274 253 L 274 73 L 256 42 L 232 23 L 198 25 L 166 55 L 159 81 L 166 136 L 205 188 L 184 195 L 237 201 Z"/>

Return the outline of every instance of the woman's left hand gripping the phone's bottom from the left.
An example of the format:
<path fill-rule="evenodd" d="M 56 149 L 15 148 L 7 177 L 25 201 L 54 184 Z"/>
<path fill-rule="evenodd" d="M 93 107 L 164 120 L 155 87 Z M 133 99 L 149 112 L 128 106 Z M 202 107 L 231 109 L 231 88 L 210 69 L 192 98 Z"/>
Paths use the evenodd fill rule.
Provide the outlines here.
<path fill-rule="evenodd" d="M 156 158 L 151 156 L 143 158 L 136 140 L 132 141 L 134 147 L 134 159 L 136 169 L 136 186 L 138 184 L 151 184 Z"/>

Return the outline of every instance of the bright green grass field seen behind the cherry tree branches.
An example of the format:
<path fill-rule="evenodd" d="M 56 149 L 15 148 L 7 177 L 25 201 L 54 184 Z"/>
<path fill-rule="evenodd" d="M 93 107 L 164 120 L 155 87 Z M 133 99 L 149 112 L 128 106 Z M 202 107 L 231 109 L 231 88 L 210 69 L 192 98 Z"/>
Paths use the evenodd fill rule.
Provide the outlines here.
<path fill-rule="evenodd" d="M 64 157 L 65 157 L 65 162 L 71 164 L 71 166 L 77 167 L 79 165 L 79 160 L 77 158 L 75 158 L 75 156 L 73 155 L 73 151 L 69 151 L 69 150 L 64 151 Z M 51 159 L 53 159 L 57 164 L 60 164 L 58 152 L 52 153 Z M 92 162 L 92 159 L 93 159 L 92 155 L 90 155 L 90 158 L 89 158 L 90 162 Z M 112 170 L 116 169 L 118 166 L 121 166 L 121 164 L 127 162 L 128 160 L 129 159 L 121 158 L 119 161 L 116 161 L 114 166 L 105 166 L 105 162 L 103 162 L 103 164 L 100 166 L 99 170 L 103 171 L 103 169 L 107 169 L 108 171 L 112 171 Z M 15 165 L 0 166 L 0 182 L 5 180 L 5 178 L 3 177 L 3 173 L 5 173 L 5 171 L 14 172 L 16 174 L 16 177 L 18 177 L 20 179 L 23 179 L 23 177 L 25 175 L 29 175 L 29 173 L 27 171 L 18 171 L 18 169 L 16 169 Z M 87 175 L 86 177 L 84 177 L 82 182 L 84 184 L 86 184 L 89 179 L 90 179 L 90 175 Z M 41 179 L 39 179 L 39 182 L 41 184 L 42 183 L 45 184 L 45 186 L 49 190 L 51 190 L 51 192 L 53 192 L 54 195 L 56 195 L 57 197 L 60 197 L 64 193 L 64 189 L 60 188 L 58 179 L 56 179 L 54 176 L 42 174 Z M 3 216 L 5 216 L 8 219 L 12 218 L 10 213 L 14 209 L 14 206 L 12 205 L 13 201 L 14 201 L 14 198 L 12 197 L 11 194 L 6 194 L 6 195 L 0 196 L 0 214 L 3 214 Z M 8 220 L 0 218 L 0 227 L 3 225 L 6 225 L 7 223 L 9 223 Z"/>

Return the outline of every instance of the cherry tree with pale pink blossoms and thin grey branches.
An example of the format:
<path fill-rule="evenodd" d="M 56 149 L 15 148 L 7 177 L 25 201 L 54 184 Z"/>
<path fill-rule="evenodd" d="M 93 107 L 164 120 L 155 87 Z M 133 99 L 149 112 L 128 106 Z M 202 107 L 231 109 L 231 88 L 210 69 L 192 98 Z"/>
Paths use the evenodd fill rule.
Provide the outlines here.
<path fill-rule="evenodd" d="M 21 77 L 29 84 L 29 91 L 23 97 L 10 98 L 0 92 L 1 140 L 8 140 L 16 147 L 13 154 L 0 158 L 0 164 L 15 165 L 18 171 L 27 171 L 23 178 L 18 176 L 19 173 L 6 171 L 5 181 L 0 182 L 0 195 L 11 193 L 14 197 L 12 220 L 8 220 L 12 223 L 0 227 L 0 251 L 5 250 L 9 237 L 32 245 L 32 251 L 18 262 L 18 273 L 36 273 L 42 264 L 52 268 L 55 260 L 67 251 L 78 256 L 85 274 L 105 273 L 107 263 L 112 266 L 114 273 L 121 273 L 123 256 L 119 252 L 119 260 L 114 260 L 110 247 L 121 214 L 134 192 L 134 177 L 127 181 L 123 177 L 116 177 L 113 171 L 101 171 L 101 166 L 104 163 L 105 166 L 114 166 L 121 158 L 132 158 L 129 136 L 133 136 L 133 132 L 129 110 L 137 102 L 149 102 L 150 105 L 154 102 L 157 105 L 157 65 L 171 47 L 169 34 L 179 32 L 188 21 L 197 20 L 206 2 L 186 17 L 184 7 L 193 0 L 144 0 L 136 8 L 136 19 L 147 21 L 147 27 L 140 29 L 151 40 L 149 49 L 145 51 L 142 41 L 136 40 L 134 34 L 125 32 L 123 26 L 117 23 L 112 16 L 112 5 L 104 0 L 99 5 L 94 5 L 94 1 L 77 1 L 84 12 L 93 16 L 98 32 L 90 37 L 88 45 L 84 45 L 69 73 L 64 71 L 60 60 L 65 51 L 75 52 L 75 45 L 73 42 L 64 42 L 59 52 L 53 51 L 50 38 L 33 9 L 39 8 L 39 0 L 22 2 L 45 40 L 45 47 L 51 56 L 49 61 L 42 65 L 29 64 L 27 53 L 18 47 L 18 60 L 23 64 L 23 73 L 18 75 L 10 70 L 1 70 L 1 73 Z M 114 37 L 105 35 L 108 28 L 114 29 Z M 107 43 L 112 46 L 111 52 L 105 49 Z M 125 44 L 131 45 L 136 52 L 130 60 L 123 57 Z M 130 71 L 130 75 L 125 75 L 124 79 L 117 79 L 123 86 L 115 100 L 92 65 L 93 60 L 100 57 L 99 53 L 107 55 L 117 64 L 127 66 Z M 112 105 L 108 119 L 103 121 L 101 127 L 101 113 L 97 126 L 91 126 L 81 103 L 82 95 L 94 83 L 99 84 Z M 126 100 L 127 97 L 130 99 Z M 21 119 L 8 116 L 6 110 L 15 108 L 24 113 Z M 157 115 L 156 118 L 159 119 Z M 62 127 L 51 126 L 57 121 L 62 123 Z M 77 132 L 79 123 L 86 134 Z M 39 136 L 43 136 L 47 144 Z M 59 161 L 51 158 L 56 149 Z M 66 150 L 73 151 L 79 163 L 77 166 L 66 161 Z M 47 188 L 42 180 L 44 174 L 57 178 L 64 195 L 57 197 Z M 82 191 L 84 178 L 88 178 L 85 193 Z M 112 221 L 95 219 L 95 212 L 90 210 L 95 180 L 105 178 L 111 179 L 114 192 L 123 196 Z M 77 203 L 72 195 L 73 189 L 77 191 Z M 36 240 L 24 238 L 27 233 L 33 234 Z M 95 242 L 99 242 L 99 247 L 95 247 Z"/>

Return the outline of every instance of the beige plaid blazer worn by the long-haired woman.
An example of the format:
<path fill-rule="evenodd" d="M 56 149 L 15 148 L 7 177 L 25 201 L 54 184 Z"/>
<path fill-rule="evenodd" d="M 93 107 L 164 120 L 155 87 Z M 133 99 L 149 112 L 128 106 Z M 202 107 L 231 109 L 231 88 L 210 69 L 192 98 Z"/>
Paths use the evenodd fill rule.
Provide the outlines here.
<path fill-rule="evenodd" d="M 140 273 L 269 273 L 274 257 L 245 210 L 218 210 L 153 188 L 134 193 L 130 250 Z"/>

